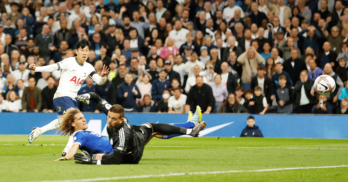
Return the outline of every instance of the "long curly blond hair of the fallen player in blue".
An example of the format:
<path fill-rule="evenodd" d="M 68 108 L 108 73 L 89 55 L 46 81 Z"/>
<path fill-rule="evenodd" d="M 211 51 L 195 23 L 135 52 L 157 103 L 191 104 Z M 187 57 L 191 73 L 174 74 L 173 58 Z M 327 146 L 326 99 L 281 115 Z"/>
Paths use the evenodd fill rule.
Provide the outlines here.
<path fill-rule="evenodd" d="M 69 108 L 68 110 L 66 110 L 65 114 L 58 116 L 62 127 L 57 133 L 63 132 L 61 135 L 64 136 L 73 134 L 75 131 L 74 127 L 72 126 L 72 123 L 74 122 L 74 116 L 80 112 L 81 111 L 79 109 Z"/>

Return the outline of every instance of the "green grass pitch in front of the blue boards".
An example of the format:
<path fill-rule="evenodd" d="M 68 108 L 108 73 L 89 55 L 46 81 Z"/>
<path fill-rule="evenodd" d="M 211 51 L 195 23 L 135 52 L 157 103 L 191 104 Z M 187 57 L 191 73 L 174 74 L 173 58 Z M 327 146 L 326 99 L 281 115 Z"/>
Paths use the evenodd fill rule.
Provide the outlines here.
<path fill-rule="evenodd" d="M 138 165 L 81 165 L 61 157 L 68 137 L 42 135 L 32 144 L 27 136 L 0 135 L 0 181 L 81 180 L 97 177 L 160 175 L 167 177 L 104 181 L 348 181 L 348 167 L 269 172 L 191 174 L 232 170 L 348 165 L 348 140 L 275 138 L 152 139 Z M 51 145 L 51 144 L 55 145 Z M 42 145 L 41 145 L 42 144 Z M 168 147 L 171 146 L 171 147 Z M 340 149 L 339 149 L 340 148 Z M 102 180 L 100 180 L 102 181 Z"/>

